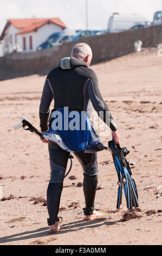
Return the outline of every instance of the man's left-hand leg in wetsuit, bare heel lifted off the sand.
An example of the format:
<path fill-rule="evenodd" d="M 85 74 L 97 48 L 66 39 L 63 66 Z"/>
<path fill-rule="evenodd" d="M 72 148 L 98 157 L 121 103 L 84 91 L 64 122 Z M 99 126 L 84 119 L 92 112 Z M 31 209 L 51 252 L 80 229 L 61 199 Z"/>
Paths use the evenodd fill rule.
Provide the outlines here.
<path fill-rule="evenodd" d="M 69 153 L 50 142 L 48 143 L 48 148 L 51 173 L 47 189 L 47 209 L 49 214 L 47 221 L 48 225 L 50 225 L 49 233 L 55 233 L 60 229 L 58 212 Z"/>

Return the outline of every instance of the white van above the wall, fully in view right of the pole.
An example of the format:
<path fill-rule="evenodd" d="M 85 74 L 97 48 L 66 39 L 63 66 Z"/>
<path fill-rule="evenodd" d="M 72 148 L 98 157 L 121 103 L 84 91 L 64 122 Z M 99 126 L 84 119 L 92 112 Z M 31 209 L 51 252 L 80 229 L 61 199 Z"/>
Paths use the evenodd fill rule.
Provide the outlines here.
<path fill-rule="evenodd" d="M 149 21 L 142 15 L 114 13 L 109 18 L 107 30 L 111 33 L 118 33 L 145 22 Z"/>

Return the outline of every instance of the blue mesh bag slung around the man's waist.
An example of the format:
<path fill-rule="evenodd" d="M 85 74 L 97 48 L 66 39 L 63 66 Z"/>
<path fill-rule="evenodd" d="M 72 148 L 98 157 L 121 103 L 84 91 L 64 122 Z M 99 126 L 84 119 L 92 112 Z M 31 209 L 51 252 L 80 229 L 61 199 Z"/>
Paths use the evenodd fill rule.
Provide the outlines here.
<path fill-rule="evenodd" d="M 58 114 L 62 117 L 61 119 L 58 119 Z M 55 111 L 51 128 L 43 133 L 43 137 L 69 152 L 94 153 L 102 150 L 97 147 L 98 143 L 102 144 L 102 142 L 96 136 L 88 116 L 83 112 L 67 109 L 65 111 L 64 108 L 61 108 L 59 113 Z"/>

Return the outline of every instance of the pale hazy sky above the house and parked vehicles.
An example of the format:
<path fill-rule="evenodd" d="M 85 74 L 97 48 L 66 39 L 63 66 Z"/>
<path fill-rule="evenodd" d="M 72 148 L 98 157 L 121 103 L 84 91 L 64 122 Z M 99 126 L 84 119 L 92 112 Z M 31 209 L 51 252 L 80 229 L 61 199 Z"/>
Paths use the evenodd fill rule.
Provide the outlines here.
<path fill-rule="evenodd" d="M 87 0 L 88 25 L 106 29 L 109 16 L 142 14 L 153 20 L 153 14 L 162 10 L 162 0 Z M 86 28 L 86 0 L 0 0 L 0 33 L 7 19 L 31 17 L 60 17 L 69 28 Z"/>

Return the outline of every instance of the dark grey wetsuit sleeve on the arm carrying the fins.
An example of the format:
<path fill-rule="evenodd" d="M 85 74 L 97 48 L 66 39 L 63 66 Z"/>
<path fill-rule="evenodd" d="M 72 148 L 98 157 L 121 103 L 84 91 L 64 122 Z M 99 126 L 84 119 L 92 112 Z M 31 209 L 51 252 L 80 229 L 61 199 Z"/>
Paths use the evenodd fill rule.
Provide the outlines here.
<path fill-rule="evenodd" d="M 116 131 L 117 126 L 111 112 L 109 111 L 105 101 L 101 96 L 98 85 L 98 78 L 93 70 L 90 72 L 88 79 L 88 95 L 99 117 L 111 128 L 112 131 Z"/>

